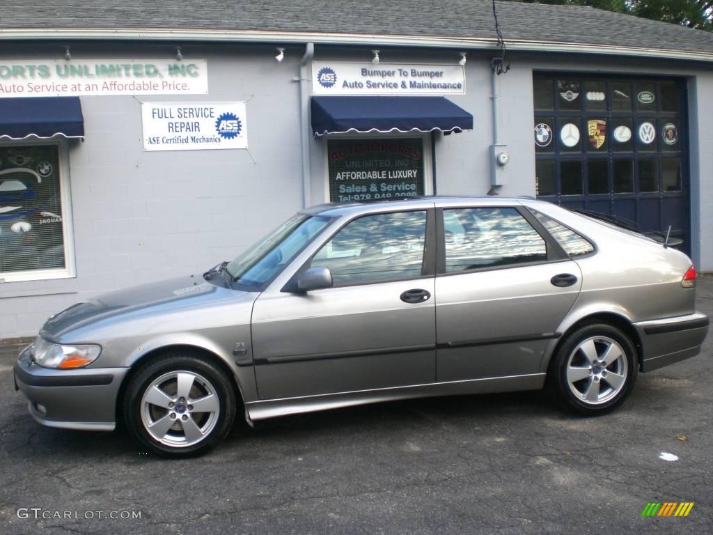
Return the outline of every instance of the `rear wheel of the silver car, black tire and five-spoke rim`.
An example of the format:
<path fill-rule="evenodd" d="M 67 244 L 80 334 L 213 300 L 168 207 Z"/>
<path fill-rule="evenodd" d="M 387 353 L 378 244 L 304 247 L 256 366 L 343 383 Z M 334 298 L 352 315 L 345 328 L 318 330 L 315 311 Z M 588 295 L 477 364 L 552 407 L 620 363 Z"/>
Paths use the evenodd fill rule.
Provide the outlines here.
<path fill-rule="evenodd" d="M 616 355 L 620 349 L 622 357 L 610 362 L 605 361 L 605 366 L 592 365 L 587 357 L 592 355 L 590 341 L 593 342 L 597 354 L 595 362 L 602 362 L 599 359 L 604 356 L 607 347 L 610 347 L 607 345 L 610 342 L 618 345 L 612 346 L 612 354 Z M 570 378 L 575 379 L 580 374 L 585 374 L 588 365 L 590 373 L 586 377 L 570 382 Z M 634 344 L 622 330 L 606 323 L 589 323 L 568 332 L 563 338 L 550 361 L 546 388 L 550 397 L 570 412 L 587 416 L 606 414 L 629 396 L 636 382 L 638 368 Z M 623 382 L 620 375 L 624 376 Z M 596 392 L 590 392 L 588 389 L 593 382 L 598 383 L 598 386 L 594 385 Z M 591 394 L 589 399 L 587 394 Z"/>

